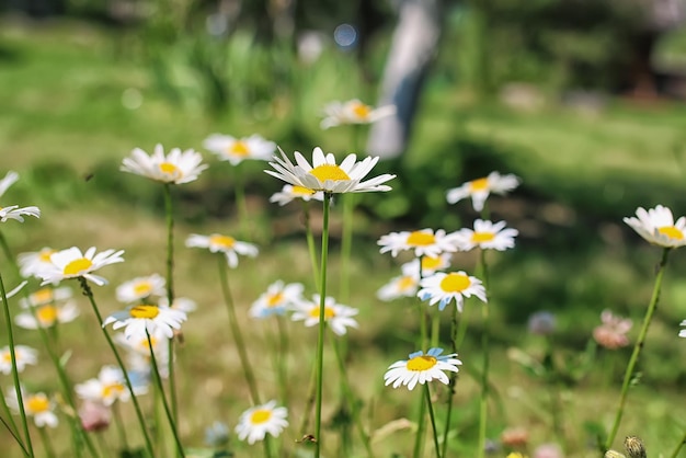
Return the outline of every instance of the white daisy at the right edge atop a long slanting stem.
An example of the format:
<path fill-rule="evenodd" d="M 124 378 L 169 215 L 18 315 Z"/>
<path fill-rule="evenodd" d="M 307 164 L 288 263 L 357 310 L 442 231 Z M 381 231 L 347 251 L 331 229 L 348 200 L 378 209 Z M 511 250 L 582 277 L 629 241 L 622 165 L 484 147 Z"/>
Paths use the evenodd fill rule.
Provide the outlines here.
<path fill-rule="evenodd" d="M 686 244 L 686 217 L 674 222 L 672 210 L 662 205 L 648 211 L 643 207 L 636 210 L 638 218 L 624 218 L 648 242 L 664 247 L 677 248 Z"/>

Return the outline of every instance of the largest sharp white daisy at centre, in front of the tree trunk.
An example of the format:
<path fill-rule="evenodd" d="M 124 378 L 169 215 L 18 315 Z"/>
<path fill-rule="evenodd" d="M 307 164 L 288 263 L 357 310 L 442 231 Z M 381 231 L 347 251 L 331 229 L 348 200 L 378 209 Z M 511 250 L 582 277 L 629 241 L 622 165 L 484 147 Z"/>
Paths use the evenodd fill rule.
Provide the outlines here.
<path fill-rule="evenodd" d="M 355 154 L 347 154 L 340 165 L 336 165 L 333 154 L 324 152 L 321 148 L 315 148 L 312 152 L 312 165 L 298 151 L 295 152 L 296 164 L 282 150 L 281 158 L 274 156 L 275 162 L 270 162 L 276 171 L 265 170 L 272 176 L 311 191 L 327 193 L 368 193 L 375 191 L 390 191 L 386 183 L 396 178 L 388 173 L 362 181 L 371 171 L 379 158 L 367 157 L 357 161 Z"/>

